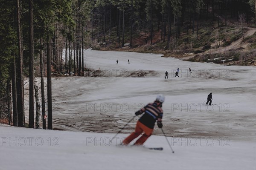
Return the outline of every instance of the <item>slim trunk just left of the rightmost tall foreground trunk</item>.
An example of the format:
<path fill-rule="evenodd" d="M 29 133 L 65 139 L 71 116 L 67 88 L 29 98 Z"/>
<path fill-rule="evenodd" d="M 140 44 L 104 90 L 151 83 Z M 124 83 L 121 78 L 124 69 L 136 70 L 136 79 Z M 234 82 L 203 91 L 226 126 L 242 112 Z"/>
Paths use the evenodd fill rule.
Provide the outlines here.
<path fill-rule="evenodd" d="M 43 40 L 40 38 L 40 45 L 43 45 Z M 45 98 L 44 98 L 44 59 L 43 51 L 40 50 L 40 77 L 41 77 L 41 98 L 42 98 L 42 122 L 43 129 L 46 129 L 46 115 L 45 115 Z"/>

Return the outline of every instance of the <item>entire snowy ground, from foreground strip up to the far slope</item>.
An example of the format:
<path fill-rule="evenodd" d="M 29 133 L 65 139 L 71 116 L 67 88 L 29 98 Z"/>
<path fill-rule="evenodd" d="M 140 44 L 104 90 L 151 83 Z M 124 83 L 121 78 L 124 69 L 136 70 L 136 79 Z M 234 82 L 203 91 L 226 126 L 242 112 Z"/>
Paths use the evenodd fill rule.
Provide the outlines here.
<path fill-rule="evenodd" d="M 101 70 L 92 73 L 96 77 L 52 78 L 54 129 L 80 132 L 1 126 L 0 169 L 256 169 L 256 67 L 134 52 L 85 50 L 84 56 L 87 67 Z M 177 68 L 180 78 L 174 78 Z M 216 105 L 207 107 L 210 92 Z M 166 96 L 163 130 L 172 136 L 175 153 L 157 127 L 145 146 L 163 151 L 106 146 L 159 93 Z M 118 140 L 134 130 L 138 118 Z M 41 147 L 35 143 L 40 137 Z M 10 144 L 15 138 L 17 147 Z M 23 138 L 24 147 L 19 144 Z M 10 164 L 13 158 L 17 164 Z"/>

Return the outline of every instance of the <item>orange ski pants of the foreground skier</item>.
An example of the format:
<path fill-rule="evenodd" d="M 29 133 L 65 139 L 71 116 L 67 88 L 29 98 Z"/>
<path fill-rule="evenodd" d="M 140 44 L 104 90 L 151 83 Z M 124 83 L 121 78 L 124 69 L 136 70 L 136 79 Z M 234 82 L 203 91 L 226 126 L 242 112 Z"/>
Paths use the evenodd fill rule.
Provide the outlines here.
<path fill-rule="evenodd" d="M 150 129 L 149 127 L 142 124 L 140 121 L 137 121 L 135 131 L 131 133 L 131 135 L 129 135 L 127 138 L 125 138 L 125 140 L 123 141 L 123 144 L 125 145 L 129 144 L 132 140 L 137 138 L 142 133 L 143 135 L 135 142 L 134 145 L 143 145 L 144 142 L 147 140 L 147 138 L 149 138 L 149 136 L 151 136 L 153 133 L 153 129 Z"/>

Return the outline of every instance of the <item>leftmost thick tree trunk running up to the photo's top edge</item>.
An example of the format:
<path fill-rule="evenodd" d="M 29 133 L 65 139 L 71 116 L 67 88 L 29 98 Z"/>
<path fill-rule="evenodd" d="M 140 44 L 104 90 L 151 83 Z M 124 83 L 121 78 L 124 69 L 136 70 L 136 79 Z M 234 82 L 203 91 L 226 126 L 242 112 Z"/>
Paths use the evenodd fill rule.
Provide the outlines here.
<path fill-rule="evenodd" d="M 19 57 L 17 60 L 17 112 L 18 112 L 18 126 L 25 126 L 25 114 L 24 114 L 24 84 L 23 84 L 23 48 L 22 48 L 22 36 L 20 26 L 20 3 L 17 0 L 17 36 L 19 46 Z"/>

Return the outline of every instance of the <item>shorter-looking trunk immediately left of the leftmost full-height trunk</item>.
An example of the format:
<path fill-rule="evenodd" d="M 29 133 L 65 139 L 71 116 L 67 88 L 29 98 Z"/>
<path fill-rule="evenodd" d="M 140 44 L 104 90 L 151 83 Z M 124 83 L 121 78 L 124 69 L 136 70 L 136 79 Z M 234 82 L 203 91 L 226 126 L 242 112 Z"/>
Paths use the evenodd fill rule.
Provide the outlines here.
<path fill-rule="evenodd" d="M 16 59 L 12 63 L 12 118 L 13 126 L 18 126 L 18 112 L 17 112 L 17 84 L 16 84 Z"/>

